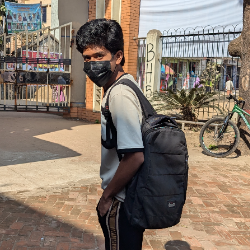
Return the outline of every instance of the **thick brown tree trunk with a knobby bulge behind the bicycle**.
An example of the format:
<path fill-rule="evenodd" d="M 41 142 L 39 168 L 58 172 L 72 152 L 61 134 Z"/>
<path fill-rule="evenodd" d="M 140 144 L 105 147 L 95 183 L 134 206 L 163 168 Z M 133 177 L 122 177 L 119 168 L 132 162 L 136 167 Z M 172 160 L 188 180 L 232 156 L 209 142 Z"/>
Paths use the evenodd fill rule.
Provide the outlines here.
<path fill-rule="evenodd" d="M 243 2 L 243 30 L 237 39 L 228 47 L 229 54 L 241 58 L 239 91 L 240 97 L 246 101 L 245 109 L 250 109 L 250 0 Z M 248 119 L 248 121 L 250 121 Z M 239 122 L 241 140 L 238 149 L 242 155 L 250 154 L 250 133 L 245 123 Z"/>

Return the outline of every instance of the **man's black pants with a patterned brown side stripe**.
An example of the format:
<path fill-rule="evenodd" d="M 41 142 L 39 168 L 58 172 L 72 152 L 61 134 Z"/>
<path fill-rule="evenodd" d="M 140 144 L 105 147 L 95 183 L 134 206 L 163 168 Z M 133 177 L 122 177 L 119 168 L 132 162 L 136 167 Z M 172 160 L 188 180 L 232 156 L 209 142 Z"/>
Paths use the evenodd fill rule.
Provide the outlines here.
<path fill-rule="evenodd" d="M 97 214 L 106 250 L 141 250 L 144 230 L 130 225 L 123 202 L 114 199 L 107 214 L 101 217 L 98 209 Z"/>

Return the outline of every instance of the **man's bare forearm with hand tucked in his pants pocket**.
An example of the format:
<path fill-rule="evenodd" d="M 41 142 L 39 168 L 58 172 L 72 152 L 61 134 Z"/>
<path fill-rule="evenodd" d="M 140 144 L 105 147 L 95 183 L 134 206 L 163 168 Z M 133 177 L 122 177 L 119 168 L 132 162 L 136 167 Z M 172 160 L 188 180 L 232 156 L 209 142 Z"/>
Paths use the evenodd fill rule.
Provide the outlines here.
<path fill-rule="evenodd" d="M 113 179 L 104 190 L 100 199 L 98 210 L 101 216 L 107 213 L 113 197 L 129 183 L 143 162 L 144 155 L 142 152 L 124 154 Z"/>

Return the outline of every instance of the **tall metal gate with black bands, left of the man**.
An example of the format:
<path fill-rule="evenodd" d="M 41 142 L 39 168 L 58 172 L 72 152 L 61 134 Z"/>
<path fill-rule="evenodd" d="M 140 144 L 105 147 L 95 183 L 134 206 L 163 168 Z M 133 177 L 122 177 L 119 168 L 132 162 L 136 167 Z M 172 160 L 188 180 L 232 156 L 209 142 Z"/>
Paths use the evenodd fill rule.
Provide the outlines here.
<path fill-rule="evenodd" d="M 0 110 L 69 110 L 71 42 L 72 23 L 1 35 Z"/>

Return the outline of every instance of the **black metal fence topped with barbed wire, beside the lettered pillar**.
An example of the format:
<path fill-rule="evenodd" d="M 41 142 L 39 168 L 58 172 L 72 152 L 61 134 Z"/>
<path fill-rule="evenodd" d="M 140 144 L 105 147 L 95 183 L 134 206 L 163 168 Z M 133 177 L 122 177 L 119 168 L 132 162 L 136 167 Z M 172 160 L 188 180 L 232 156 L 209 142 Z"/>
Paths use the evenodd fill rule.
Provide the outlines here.
<path fill-rule="evenodd" d="M 163 34 L 160 89 L 165 91 L 170 88 L 175 91 L 203 87 L 204 91 L 216 92 L 216 95 L 212 103 L 214 108 L 200 109 L 199 119 L 206 120 L 220 115 L 219 109 L 226 112 L 226 81 L 229 78 L 233 81 L 233 94 L 236 97 L 239 94 L 241 60 L 229 55 L 228 45 L 241 34 L 241 27 L 196 27 L 169 30 Z M 144 86 L 145 57 L 146 38 L 139 38 L 137 81 L 141 88 Z M 204 81 L 204 73 L 209 73 L 209 64 L 215 65 L 219 76 L 210 87 L 209 82 Z"/>

